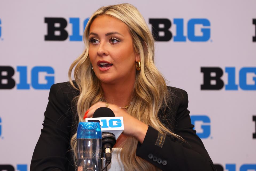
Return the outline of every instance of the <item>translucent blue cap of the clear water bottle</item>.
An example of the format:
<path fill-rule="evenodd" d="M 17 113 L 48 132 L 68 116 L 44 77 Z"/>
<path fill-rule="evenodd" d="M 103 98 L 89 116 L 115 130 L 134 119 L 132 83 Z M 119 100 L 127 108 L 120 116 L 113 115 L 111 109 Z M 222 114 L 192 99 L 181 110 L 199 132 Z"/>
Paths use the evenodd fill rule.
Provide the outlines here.
<path fill-rule="evenodd" d="M 99 122 L 79 122 L 77 127 L 77 139 L 101 139 Z"/>

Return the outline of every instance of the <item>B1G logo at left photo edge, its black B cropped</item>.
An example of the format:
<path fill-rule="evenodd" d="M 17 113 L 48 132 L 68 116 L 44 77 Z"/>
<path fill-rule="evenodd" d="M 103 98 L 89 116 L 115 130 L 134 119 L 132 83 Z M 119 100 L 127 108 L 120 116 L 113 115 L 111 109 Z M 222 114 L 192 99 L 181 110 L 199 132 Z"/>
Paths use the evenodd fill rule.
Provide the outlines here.
<path fill-rule="evenodd" d="M 17 66 L 19 73 L 19 83 L 17 89 L 30 89 L 30 84 L 27 83 L 27 66 Z M 42 74 L 47 74 L 42 76 Z M 35 66 L 31 69 L 31 87 L 34 89 L 50 89 L 54 84 L 54 69 L 50 66 Z M 13 89 L 15 80 L 12 78 L 14 75 L 14 68 L 11 66 L 0 66 L 0 89 Z M 41 77 L 40 77 L 41 75 Z M 40 79 L 41 78 L 41 79 Z M 40 83 L 44 80 L 46 83 Z"/>

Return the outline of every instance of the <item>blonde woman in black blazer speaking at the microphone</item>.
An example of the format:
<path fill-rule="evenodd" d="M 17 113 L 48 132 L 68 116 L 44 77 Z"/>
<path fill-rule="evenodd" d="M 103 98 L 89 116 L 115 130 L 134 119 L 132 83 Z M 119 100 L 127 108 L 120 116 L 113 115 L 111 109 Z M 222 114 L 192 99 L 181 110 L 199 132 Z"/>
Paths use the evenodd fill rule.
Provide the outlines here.
<path fill-rule="evenodd" d="M 103 106 L 124 118 L 115 145 L 122 148 L 124 170 L 215 170 L 192 129 L 187 93 L 166 86 L 153 63 L 152 34 L 134 6 L 101 7 L 89 19 L 84 41 L 70 82 L 50 89 L 31 171 L 75 170 L 77 124 Z"/>

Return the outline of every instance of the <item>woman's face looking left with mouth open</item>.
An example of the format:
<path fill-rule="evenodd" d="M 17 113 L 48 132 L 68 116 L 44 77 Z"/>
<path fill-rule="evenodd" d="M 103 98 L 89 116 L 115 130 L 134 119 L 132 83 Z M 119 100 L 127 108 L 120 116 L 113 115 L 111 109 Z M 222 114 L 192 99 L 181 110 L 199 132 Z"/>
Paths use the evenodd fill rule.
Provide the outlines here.
<path fill-rule="evenodd" d="M 89 30 L 89 58 L 94 73 L 104 83 L 135 79 L 135 61 L 132 36 L 122 21 L 101 15 L 94 19 Z"/>

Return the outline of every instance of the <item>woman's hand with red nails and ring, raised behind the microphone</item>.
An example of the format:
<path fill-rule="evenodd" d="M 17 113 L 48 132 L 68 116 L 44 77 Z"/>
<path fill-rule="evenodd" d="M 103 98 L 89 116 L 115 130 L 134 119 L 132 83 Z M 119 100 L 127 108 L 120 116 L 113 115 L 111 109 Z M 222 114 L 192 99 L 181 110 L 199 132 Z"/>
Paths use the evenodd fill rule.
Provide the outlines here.
<path fill-rule="evenodd" d="M 96 109 L 100 107 L 105 107 L 106 102 L 97 102 L 96 104 L 92 105 L 85 114 L 87 114 L 88 117 L 92 117 L 93 113 Z M 136 118 L 129 115 L 125 110 L 120 109 L 117 105 L 109 104 L 108 108 L 111 109 L 115 116 L 122 116 L 124 120 L 124 134 L 128 136 L 135 137 L 140 143 L 143 142 L 148 126 L 144 124 L 143 122 L 137 120 Z"/>

